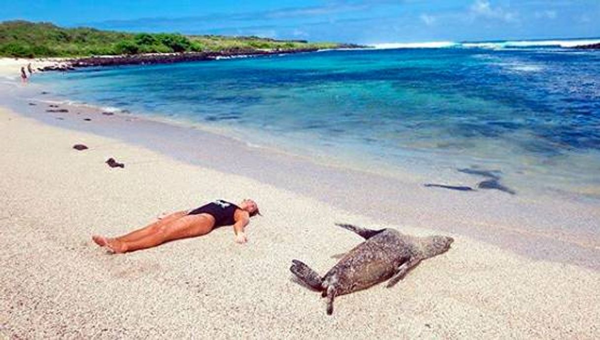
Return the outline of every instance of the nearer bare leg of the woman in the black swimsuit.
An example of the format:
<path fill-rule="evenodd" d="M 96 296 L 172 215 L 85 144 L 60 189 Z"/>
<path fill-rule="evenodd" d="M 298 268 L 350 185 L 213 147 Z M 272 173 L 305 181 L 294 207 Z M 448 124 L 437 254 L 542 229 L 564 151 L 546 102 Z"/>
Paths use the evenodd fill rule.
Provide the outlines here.
<path fill-rule="evenodd" d="M 204 215 L 185 215 L 160 227 L 151 228 L 151 232 L 141 239 L 123 241 L 107 240 L 107 246 L 114 252 L 128 252 L 152 248 L 167 241 L 208 234 L 214 227 L 214 219 Z"/>

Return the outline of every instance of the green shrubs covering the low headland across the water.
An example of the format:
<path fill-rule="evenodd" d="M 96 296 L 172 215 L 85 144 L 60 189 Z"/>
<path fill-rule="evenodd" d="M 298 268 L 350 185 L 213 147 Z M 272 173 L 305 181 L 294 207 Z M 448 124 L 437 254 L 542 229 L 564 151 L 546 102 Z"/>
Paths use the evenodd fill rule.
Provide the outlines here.
<path fill-rule="evenodd" d="M 334 43 L 273 40 L 220 35 L 149 34 L 60 28 L 52 23 L 0 23 L 0 56 L 75 57 L 139 53 L 218 52 L 235 50 L 331 49 Z"/>

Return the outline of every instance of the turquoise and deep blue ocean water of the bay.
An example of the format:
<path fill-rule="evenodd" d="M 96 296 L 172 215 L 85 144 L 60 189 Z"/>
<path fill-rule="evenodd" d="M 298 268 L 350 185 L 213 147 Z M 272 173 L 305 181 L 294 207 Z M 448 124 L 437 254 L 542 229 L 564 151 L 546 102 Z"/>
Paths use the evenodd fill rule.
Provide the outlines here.
<path fill-rule="evenodd" d="M 600 51 L 451 44 L 40 79 L 65 100 L 197 124 L 256 145 L 427 176 L 499 170 L 517 191 L 600 197 Z"/>

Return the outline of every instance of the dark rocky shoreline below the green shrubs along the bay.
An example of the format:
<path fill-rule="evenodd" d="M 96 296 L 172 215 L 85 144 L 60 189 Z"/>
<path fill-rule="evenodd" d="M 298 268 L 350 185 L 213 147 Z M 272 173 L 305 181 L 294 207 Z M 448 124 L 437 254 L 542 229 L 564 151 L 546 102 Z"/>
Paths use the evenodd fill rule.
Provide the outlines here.
<path fill-rule="evenodd" d="M 340 48 L 360 48 L 358 45 Z M 66 59 L 56 65 L 38 68 L 40 71 L 71 71 L 81 67 L 119 66 L 119 65 L 151 65 L 173 64 L 175 62 L 209 61 L 220 58 L 236 58 L 241 56 L 281 55 L 292 53 L 316 52 L 318 49 L 295 50 L 226 50 L 220 52 L 185 52 L 185 53 L 152 53 L 146 55 L 90 56 Z"/>

